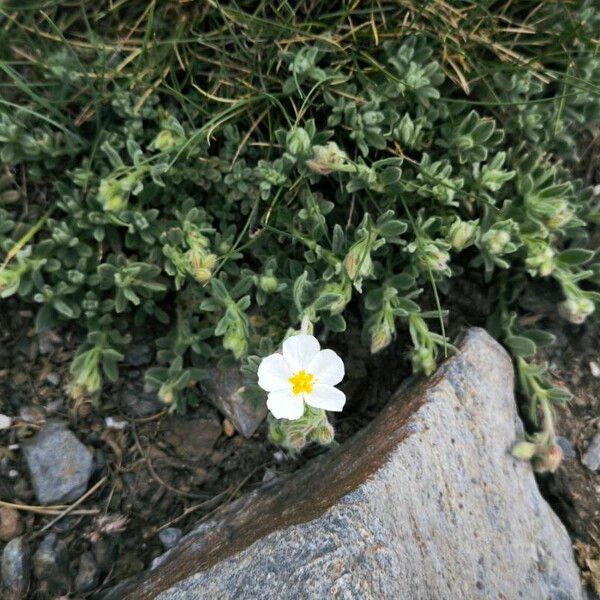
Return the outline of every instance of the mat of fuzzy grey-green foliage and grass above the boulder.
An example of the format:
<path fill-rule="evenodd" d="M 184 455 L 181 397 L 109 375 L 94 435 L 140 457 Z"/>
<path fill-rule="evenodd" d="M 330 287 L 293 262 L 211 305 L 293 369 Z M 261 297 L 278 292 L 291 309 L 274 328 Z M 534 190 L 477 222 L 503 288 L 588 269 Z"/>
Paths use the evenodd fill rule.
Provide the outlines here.
<path fill-rule="evenodd" d="M 586 1 L 338 4 L 7 3 L 3 306 L 72 340 L 58 369 L 71 417 L 111 440 L 107 407 L 142 380 L 161 428 L 217 418 L 202 387 L 215 367 L 241 369 L 239 402 L 264 404 L 260 361 L 300 329 L 354 371 L 343 440 L 364 423 L 351 383 L 366 355 L 429 375 L 460 324 L 486 325 L 535 432 L 515 453 L 554 471 L 553 411 L 570 395 L 536 356 L 552 321 L 597 322 L 600 15 Z M 272 460 L 267 429 L 286 450 L 319 441 L 285 419 L 251 442 L 228 423 L 220 444 L 256 445 L 244 477 Z M 240 460 L 213 459 L 218 473 L 184 490 L 159 475 L 159 489 L 237 493 L 203 477 Z"/>

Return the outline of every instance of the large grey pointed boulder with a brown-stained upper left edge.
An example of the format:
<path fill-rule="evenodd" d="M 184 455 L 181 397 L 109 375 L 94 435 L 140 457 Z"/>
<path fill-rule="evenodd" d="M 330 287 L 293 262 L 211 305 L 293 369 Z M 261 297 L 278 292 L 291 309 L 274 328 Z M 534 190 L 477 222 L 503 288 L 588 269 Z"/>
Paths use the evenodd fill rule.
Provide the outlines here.
<path fill-rule="evenodd" d="M 343 446 L 222 509 L 108 598 L 582 598 L 569 537 L 510 448 L 504 350 L 470 330 Z"/>

